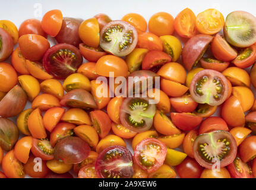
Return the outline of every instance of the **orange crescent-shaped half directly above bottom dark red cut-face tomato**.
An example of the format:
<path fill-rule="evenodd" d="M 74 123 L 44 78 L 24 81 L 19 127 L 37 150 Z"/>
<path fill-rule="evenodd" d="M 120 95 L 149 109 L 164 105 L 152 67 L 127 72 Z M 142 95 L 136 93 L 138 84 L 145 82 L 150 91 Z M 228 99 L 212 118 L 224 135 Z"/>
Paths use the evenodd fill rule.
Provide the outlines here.
<path fill-rule="evenodd" d="M 96 152 L 101 153 L 105 148 L 115 145 L 126 147 L 125 141 L 122 140 L 122 138 L 116 135 L 108 135 L 99 141 L 99 144 L 96 147 Z"/>

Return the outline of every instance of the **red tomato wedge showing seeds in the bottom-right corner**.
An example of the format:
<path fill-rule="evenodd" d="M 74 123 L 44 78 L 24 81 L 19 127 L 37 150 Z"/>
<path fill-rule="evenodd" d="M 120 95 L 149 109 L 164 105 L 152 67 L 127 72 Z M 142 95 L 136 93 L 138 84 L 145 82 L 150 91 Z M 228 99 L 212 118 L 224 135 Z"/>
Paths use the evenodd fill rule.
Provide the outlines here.
<path fill-rule="evenodd" d="M 251 167 L 242 162 L 239 156 L 236 156 L 233 163 L 227 166 L 232 178 L 253 178 Z"/>

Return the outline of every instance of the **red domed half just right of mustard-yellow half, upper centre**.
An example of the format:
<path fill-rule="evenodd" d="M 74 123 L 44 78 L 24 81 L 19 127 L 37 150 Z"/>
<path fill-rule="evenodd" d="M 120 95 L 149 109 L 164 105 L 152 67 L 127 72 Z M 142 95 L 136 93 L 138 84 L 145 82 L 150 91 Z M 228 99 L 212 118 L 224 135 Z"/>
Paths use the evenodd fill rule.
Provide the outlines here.
<path fill-rule="evenodd" d="M 154 66 L 164 65 L 167 62 L 171 61 L 171 57 L 167 55 L 167 53 L 158 51 L 158 50 L 151 50 L 148 52 L 143 59 L 142 62 L 142 69 L 148 70 L 153 68 Z"/>

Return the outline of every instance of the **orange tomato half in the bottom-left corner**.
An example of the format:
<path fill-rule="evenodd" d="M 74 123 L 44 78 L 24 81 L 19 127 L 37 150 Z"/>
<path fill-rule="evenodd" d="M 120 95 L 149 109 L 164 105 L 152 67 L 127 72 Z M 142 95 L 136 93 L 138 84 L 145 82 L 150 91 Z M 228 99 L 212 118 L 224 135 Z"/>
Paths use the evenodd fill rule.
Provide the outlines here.
<path fill-rule="evenodd" d="M 2 159 L 2 170 L 8 178 L 24 178 L 23 165 L 15 157 L 14 150 L 8 151 Z"/>

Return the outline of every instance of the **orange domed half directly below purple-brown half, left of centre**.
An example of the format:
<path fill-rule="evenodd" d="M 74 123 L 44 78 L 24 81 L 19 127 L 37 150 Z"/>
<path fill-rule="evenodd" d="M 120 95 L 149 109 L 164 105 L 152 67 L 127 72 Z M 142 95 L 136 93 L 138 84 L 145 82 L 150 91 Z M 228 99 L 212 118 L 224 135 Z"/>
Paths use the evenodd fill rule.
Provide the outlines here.
<path fill-rule="evenodd" d="M 75 125 L 91 125 L 89 115 L 83 109 L 79 108 L 71 108 L 67 110 L 62 116 L 61 121 Z"/>

